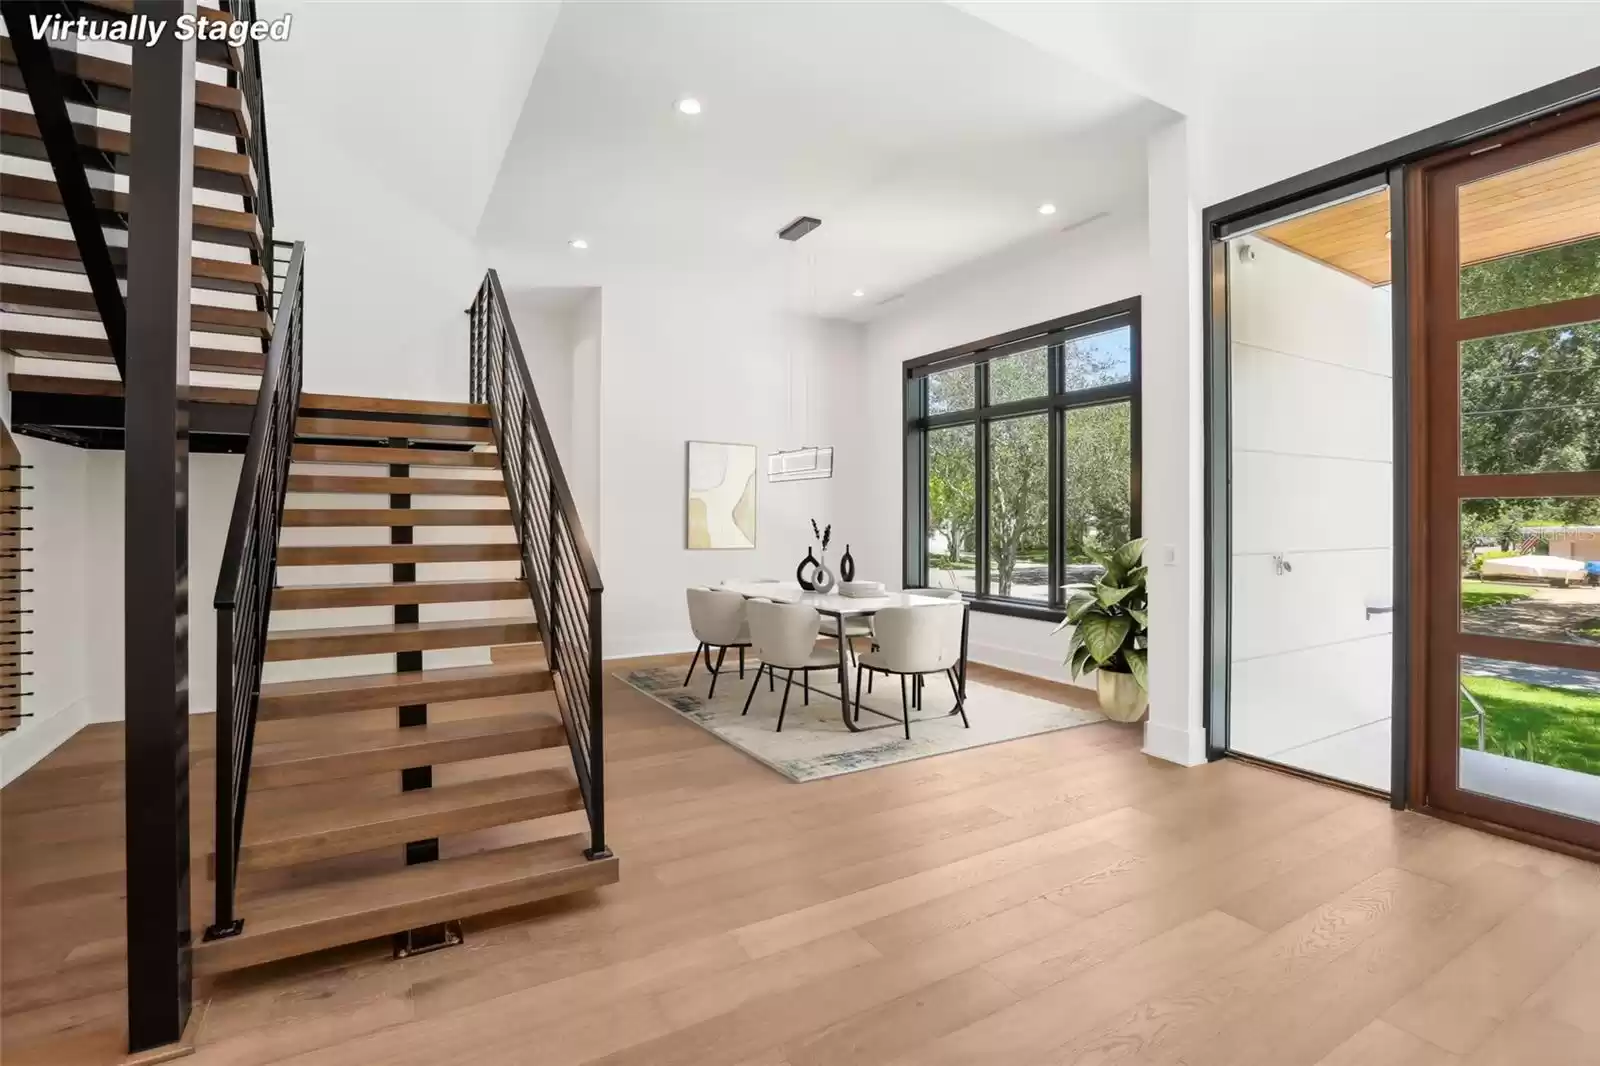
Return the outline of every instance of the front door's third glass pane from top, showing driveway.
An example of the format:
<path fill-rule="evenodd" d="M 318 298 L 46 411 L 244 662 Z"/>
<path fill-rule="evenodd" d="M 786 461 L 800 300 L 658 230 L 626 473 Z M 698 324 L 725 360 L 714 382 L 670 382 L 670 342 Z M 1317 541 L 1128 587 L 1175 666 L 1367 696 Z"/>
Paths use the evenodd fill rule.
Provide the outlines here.
<path fill-rule="evenodd" d="M 1600 496 L 1461 501 L 1461 632 L 1600 650 Z"/>

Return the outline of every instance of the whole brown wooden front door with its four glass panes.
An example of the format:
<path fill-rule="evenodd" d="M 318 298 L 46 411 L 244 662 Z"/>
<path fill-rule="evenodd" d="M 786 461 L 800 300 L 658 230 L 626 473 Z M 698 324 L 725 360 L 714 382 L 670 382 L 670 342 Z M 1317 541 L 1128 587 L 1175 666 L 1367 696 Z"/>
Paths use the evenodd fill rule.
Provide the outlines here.
<path fill-rule="evenodd" d="M 1600 117 L 1422 176 L 1427 804 L 1600 850 Z"/>

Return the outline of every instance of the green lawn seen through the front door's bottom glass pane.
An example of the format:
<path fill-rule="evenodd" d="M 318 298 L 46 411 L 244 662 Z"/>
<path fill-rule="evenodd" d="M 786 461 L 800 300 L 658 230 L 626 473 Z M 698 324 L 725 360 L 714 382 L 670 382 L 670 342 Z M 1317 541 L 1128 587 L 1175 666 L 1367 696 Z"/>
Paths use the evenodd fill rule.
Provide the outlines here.
<path fill-rule="evenodd" d="M 1600 695 L 1501 677 L 1464 677 L 1483 704 L 1486 749 L 1496 755 L 1600 775 Z M 1461 698 L 1461 746 L 1478 746 L 1478 720 Z"/>

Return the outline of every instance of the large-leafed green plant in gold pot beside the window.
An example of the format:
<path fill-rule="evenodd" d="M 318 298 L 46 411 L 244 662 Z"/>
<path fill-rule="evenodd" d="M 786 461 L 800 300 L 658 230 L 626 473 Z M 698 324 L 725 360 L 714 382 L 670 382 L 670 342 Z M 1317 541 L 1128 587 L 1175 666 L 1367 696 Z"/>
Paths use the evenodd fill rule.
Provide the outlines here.
<path fill-rule="evenodd" d="M 1144 578 L 1144 538 L 1114 552 L 1085 549 L 1106 568 L 1094 584 L 1067 586 L 1067 616 L 1056 626 L 1072 626 L 1066 664 L 1072 677 L 1096 671 L 1101 711 L 1114 722 L 1138 722 L 1150 703 L 1146 666 L 1149 615 Z"/>

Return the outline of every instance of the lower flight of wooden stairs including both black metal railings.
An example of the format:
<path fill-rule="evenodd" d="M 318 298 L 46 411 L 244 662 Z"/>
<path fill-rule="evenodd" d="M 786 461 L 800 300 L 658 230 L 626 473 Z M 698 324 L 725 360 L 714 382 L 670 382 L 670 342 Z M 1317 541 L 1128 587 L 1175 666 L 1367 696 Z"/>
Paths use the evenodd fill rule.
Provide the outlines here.
<path fill-rule="evenodd" d="M 197 973 L 618 879 L 589 695 L 598 579 L 498 282 L 474 304 L 488 402 L 312 395 L 304 254 L 218 581 L 216 920 Z M 582 586 L 560 581 L 576 555 Z"/>

